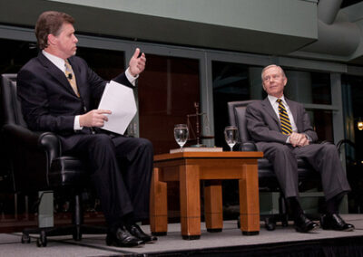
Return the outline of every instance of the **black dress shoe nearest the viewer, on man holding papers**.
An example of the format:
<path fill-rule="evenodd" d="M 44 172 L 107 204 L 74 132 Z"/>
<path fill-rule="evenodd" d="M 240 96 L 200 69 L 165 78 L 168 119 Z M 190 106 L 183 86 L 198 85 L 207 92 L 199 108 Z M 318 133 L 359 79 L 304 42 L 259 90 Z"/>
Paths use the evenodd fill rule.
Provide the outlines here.
<path fill-rule="evenodd" d="M 116 231 L 108 232 L 106 237 L 107 245 L 133 247 L 141 245 L 142 243 L 142 240 L 129 233 L 129 231 L 124 226 L 119 227 Z"/>

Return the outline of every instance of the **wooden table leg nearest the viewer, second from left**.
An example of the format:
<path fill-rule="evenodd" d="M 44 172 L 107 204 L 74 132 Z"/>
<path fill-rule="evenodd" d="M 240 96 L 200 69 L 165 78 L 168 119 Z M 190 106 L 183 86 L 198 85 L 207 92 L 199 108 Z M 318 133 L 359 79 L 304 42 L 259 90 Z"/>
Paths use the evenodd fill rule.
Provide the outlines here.
<path fill-rule="evenodd" d="M 199 167 L 185 165 L 179 169 L 181 192 L 182 238 L 201 237 L 201 194 Z"/>

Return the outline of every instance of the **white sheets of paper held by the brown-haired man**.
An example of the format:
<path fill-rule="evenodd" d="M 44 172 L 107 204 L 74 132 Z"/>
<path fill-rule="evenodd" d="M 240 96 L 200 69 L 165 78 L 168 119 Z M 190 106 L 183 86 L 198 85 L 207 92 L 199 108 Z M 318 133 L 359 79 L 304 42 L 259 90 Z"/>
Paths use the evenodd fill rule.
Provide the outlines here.
<path fill-rule="evenodd" d="M 123 84 L 110 81 L 103 90 L 98 109 L 112 111 L 102 129 L 123 135 L 137 111 L 133 90 Z"/>

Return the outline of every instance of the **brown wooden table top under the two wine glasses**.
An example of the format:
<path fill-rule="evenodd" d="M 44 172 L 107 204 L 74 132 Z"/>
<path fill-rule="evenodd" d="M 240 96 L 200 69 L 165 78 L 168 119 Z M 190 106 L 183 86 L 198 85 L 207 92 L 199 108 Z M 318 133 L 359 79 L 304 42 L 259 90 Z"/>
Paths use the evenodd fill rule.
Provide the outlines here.
<path fill-rule="evenodd" d="M 263 157 L 262 152 L 182 152 L 172 154 L 161 154 L 153 157 L 154 161 L 180 159 L 180 158 L 260 158 Z"/>

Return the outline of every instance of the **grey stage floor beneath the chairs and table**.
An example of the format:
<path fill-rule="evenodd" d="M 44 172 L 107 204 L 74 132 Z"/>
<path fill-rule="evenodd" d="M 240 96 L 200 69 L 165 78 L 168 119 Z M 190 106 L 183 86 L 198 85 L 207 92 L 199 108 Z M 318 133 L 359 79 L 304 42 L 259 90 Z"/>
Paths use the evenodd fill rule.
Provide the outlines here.
<path fill-rule="evenodd" d="M 21 233 L 0 233 L 0 256 L 148 256 L 148 255 L 199 255 L 212 252 L 211 255 L 225 256 L 222 252 L 253 252 L 254 249 L 265 248 L 267 251 L 290 245 L 320 245 L 328 243 L 360 242 L 363 245 L 363 214 L 344 214 L 342 217 L 356 226 L 354 232 L 334 232 L 319 229 L 313 233 L 297 233 L 293 225 L 277 226 L 275 231 L 265 230 L 261 223 L 259 235 L 242 235 L 236 221 L 225 221 L 221 233 L 208 233 L 201 224 L 201 239 L 182 240 L 180 224 L 169 224 L 168 234 L 160 236 L 156 243 L 148 243 L 137 248 L 109 247 L 105 244 L 105 235 L 83 235 L 81 242 L 75 242 L 70 236 L 48 237 L 46 247 L 36 246 L 36 236 L 31 243 L 22 244 Z M 149 226 L 143 225 L 145 232 Z M 337 241 L 338 240 L 338 241 Z M 184 252 L 184 253 L 183 253 Z M 250 254 L 249 254 L 250 255 Z M 343 255 L 344 256 L 344 255 Z"/>

